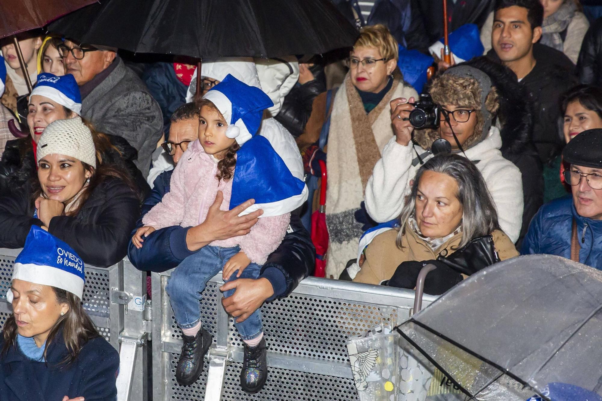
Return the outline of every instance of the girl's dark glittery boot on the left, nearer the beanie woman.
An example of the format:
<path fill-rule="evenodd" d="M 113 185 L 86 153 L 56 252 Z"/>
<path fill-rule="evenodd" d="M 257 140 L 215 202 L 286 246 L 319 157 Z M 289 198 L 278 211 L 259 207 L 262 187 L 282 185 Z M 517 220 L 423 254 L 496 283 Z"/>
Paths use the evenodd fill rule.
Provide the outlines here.
<path fill-rule="evenodd" d="M 176 368 L 176 381 L 181 385 L 196 382 L 205 367 L 205 354 L 211 346 L 213 337 L 205 329 L 200 329 L 196 336 L 182 335 L 182 353 Z"/>

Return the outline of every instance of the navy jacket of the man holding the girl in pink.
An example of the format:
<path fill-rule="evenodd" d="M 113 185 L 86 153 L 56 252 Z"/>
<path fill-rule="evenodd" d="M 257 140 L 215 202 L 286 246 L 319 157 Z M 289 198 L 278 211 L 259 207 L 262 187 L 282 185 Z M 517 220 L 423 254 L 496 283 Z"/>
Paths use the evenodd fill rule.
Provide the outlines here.
<path fill-rule="evenodd" d="M 135 228 L 143 226 L 142 218 L 149 210 L 161 202 L 169 192 L 173 170 L 161 173 L 154 182 L 151 194 L 144 199 L 140 219 Z M 309 233 L 303 228 L 299 216 L 291 214 L 291 229 L 278 248 L 268 256 L 261 266 L 260 277 L 267 278 L 274 289 L 274 298 L 288 296 L 299 282 L 314 273 L 315 247 Z M 128 243 L 128 257 L 138 270 L 147 272 L 165 272 L 178 266 L 194 252 L 185 246 L 186 233 L 190 227 L 171 226 L 158 229 L 144 238 L 141 249 Z M 135 234 L 132 230 L 131 236 Z"/>

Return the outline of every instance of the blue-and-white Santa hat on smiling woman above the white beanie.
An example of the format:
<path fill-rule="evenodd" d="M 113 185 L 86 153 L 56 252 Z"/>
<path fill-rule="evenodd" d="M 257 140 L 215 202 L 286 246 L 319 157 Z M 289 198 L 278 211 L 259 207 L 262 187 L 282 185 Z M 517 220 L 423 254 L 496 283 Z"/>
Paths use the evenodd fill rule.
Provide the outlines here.
<path fill-rule="evenodd" d="M 38 75 L 36 87 L 31 95 L 44 96 L 60 105 L 81 114 L 81 95 L 79 86 L 71 74 L 57 76 L 49 72 Z"/>

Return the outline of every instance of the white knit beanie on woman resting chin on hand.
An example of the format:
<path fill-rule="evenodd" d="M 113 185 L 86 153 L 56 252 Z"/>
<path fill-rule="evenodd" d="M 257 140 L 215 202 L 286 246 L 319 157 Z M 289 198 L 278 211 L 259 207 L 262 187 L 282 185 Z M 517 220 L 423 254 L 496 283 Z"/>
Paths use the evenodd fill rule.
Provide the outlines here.
<path fill-rule="evenodd" d="M 52 154 L 74 157 L 96 168 L 92 132 L 80 117 L 55 120 L 44 129 L 37 145 L 37 161 Z"/>

